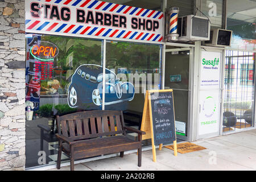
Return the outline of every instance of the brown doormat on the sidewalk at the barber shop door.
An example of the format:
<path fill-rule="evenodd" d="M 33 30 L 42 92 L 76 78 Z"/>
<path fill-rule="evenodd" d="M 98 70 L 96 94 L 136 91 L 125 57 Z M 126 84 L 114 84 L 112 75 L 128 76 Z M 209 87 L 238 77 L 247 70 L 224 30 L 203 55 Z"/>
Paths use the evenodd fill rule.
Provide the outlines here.
<path fill-rule="evenodd" d="M 174 150 L 174 145 L 164 146 L 164 147 Z M 195 143 L 190 143 L 190 142 L 177 144 L 177 152 L 179 152 L 180 154 L 186 154 L 188 152 L 194 152 L 194 151 L 199 151 L 204 149 L 207 149 L 207 148 L 197 146 Z"/>

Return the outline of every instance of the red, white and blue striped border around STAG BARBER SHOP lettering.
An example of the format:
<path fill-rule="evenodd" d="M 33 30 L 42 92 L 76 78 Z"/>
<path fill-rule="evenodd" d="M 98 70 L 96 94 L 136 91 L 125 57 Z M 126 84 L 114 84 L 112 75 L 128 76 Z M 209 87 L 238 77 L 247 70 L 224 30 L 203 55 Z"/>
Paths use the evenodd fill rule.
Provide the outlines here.
<path fill-rule="evenodd" d="M 48 20 L 44 18 L 33 18 L 30 15 L 30 3 L 40 2 L 57 5 L 59 7 L 75 7 L 75 9 L 91 9 L 97 11 L 107 11 L 112 14 L 138 16 L 138 18 L 159 20 L 160 28 L 158 31 L 141 31 L 126 28 L 115 28 L 105 26 L 95 26 L 84 23 L 64 22 L 59 20 Z M 74 17 L 75 18 L 75 17 Z M 76 18 L 75 18 L 76 19 Z M 26 32 L 46 33 L 54 35 L 72 35 L 72 36 L 98 36 L 102 38 L 133 39 L 150 42 L 163 41 L 163 12 L 147 10 L 139 7 L 118 5 L 109 2 L 95 0 L 44 0 L 44 1 L 26 1 Z"/>

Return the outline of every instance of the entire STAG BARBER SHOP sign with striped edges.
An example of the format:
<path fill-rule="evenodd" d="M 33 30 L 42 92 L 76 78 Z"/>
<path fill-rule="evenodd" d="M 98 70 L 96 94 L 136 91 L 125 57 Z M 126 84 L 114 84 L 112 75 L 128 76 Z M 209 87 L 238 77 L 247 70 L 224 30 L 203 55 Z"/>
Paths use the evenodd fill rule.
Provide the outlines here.
<path fill-rule="evenodd" d="M 26 32 L 163 41 L 163 12 L 94 0 L 26 0 Z"/>

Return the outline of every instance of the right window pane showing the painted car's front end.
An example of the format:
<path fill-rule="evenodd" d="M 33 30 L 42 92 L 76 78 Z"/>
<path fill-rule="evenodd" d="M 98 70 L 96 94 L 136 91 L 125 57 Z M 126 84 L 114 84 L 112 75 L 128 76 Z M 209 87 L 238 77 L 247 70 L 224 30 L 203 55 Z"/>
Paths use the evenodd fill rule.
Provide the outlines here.
<path fill-rule="evenodd" d="M 105 109 L 123 110 L 128 126 L 141 127 L 146 90 L 160 89 L 161 48 L 154 44 L 106 43 L 109 80 Z"/>

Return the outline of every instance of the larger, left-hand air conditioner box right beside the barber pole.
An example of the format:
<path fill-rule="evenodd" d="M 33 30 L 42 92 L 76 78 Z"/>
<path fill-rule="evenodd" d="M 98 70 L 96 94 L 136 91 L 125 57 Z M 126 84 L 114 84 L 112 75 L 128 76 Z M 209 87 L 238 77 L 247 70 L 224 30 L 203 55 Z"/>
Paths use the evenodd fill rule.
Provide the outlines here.
<path fill-rule="evenodd" d="M 180 41 L 209 40 L 210 21 L 202 16 L 182 16 L 177 20 L 177 34 Z"/>

